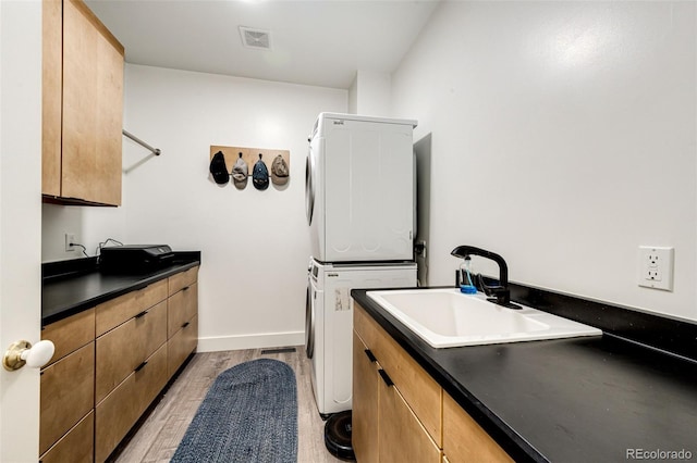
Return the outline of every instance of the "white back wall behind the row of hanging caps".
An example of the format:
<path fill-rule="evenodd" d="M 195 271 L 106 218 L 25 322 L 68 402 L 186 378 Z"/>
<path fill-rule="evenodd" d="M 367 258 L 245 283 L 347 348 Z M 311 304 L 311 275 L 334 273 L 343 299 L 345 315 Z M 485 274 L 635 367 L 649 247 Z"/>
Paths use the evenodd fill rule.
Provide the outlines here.
<path fill-rule="evenodd" d="M 62 258 L 64 232 L 90 255 L 108 237 L 200 250 L 199 351 L 304 343 L 307 136 L 320 112 L 346 111 L 346 90 L 126 64 L 124 93 L 124 128 L 162 154 L 124 138 L 119 209 L 45 205 L 44 261 Z M 291 179 L 218 186 L 211 145 L 290 150 Z"/>

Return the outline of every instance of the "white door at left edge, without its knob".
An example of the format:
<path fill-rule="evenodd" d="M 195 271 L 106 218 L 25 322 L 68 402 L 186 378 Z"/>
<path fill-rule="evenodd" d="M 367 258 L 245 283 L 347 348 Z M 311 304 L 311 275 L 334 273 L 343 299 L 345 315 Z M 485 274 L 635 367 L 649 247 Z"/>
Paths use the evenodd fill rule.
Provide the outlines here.
<path fill-rule="evenodd" d="M 41 321 L 41 2 L 0 1 L 0 354 Z M 0 462 L 38 460 L 39 372 L 0 367 Z"/>

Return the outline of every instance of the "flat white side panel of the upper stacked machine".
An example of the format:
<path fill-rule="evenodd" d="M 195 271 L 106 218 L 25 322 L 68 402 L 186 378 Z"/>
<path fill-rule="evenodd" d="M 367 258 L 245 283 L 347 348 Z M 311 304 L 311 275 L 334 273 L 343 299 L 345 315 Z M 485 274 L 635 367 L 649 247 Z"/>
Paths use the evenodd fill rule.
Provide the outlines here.
<path fill-rule="evenodd" d="M 409 125 L 345 121 L 323 147 L 326 262 L 413 259 Z"/>

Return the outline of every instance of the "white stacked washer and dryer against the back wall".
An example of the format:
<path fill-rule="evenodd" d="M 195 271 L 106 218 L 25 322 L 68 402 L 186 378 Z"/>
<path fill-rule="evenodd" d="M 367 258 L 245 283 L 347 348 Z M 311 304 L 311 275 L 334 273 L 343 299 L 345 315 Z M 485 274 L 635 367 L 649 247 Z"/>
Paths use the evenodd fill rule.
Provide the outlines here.
<path fill-rule="evenodd" d="M 417 286 L 414 127 L 321 113 L 309 137 L 306 351 L 323 417 L 352 406 L 351 289 Z"/>

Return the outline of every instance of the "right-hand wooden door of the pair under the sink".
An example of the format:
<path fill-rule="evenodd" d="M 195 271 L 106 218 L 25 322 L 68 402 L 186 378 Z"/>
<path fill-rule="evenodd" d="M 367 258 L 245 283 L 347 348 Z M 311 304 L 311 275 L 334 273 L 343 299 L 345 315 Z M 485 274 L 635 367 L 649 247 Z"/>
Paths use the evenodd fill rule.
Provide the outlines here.
<path fill-rule="evenodd" d="M 396 384 L 396 383 L 395 383 Z M 380 463 L 440 463 L 441 451 L 394 386 L 380 380 Z M 472 460 L 486 461 L 486 460 Z"/>

